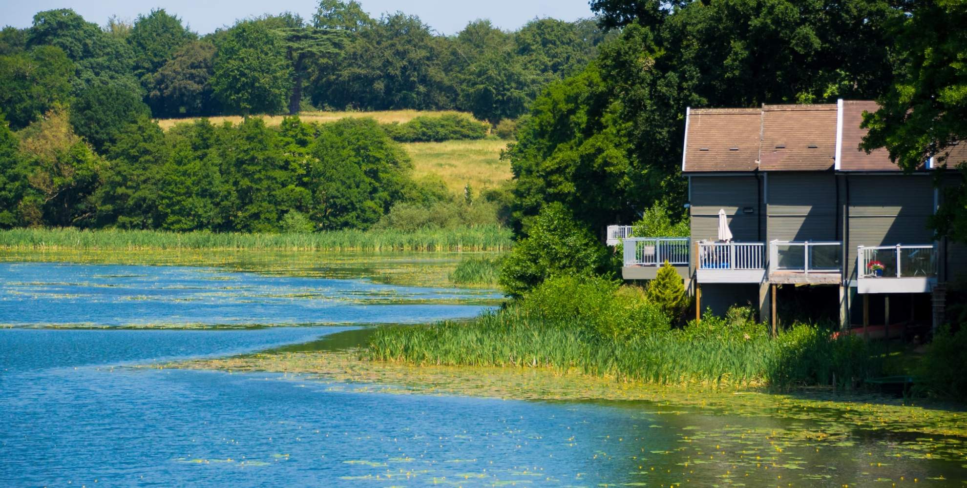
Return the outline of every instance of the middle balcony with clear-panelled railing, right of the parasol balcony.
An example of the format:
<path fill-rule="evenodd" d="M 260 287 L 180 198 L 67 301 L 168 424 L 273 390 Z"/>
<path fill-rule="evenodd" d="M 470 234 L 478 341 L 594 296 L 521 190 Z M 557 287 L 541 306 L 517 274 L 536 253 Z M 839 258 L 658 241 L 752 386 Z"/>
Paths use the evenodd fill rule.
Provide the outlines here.
<path fill-rule="evenodd" d="M 771 283 L 839 284 L 842 243 L 773 241 L 769 243 Z"/>

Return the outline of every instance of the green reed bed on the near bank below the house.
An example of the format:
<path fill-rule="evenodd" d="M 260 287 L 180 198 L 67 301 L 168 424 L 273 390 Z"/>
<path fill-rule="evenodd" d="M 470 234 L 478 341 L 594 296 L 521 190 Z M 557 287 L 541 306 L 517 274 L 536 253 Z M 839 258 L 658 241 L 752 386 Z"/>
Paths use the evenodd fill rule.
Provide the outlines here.
<path fill-rule="evenodd" d="M 580 324 L 551 322 L 516 306 L 472 322 L 376 330 L 366 359 L 413 364 L 542 367 L 659 385 L 848 386 L 879 371 L 854 337 L 799 326 L 769 337 L 728 325 L 691 324 L 608 338 Z M 703 324 L 705 321 L 703 321 Z"/>

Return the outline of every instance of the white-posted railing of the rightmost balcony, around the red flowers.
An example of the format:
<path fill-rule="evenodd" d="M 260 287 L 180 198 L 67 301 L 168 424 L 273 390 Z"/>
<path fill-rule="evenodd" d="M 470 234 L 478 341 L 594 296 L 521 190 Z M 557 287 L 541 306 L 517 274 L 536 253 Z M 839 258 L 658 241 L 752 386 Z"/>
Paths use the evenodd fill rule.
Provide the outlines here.
<path fill-rule="evenodd" d="M 937 248 L 922 245 L 860 245 L 859 278 L 933 278 L 937 274 Z"/>

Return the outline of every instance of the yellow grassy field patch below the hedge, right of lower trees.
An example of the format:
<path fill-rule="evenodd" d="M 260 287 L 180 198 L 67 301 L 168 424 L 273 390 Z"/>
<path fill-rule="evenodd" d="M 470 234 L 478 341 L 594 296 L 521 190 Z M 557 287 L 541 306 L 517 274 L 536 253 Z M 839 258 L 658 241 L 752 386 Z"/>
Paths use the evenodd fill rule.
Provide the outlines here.
<path fill-rule="evenodd" d="M 468 183 L 480 191 L 511 179 L 510 161 L 500 160 L 505 140 L 411 142 L 403 147 L 413 158 L 414 177 L 437 175 L 456 193 Z"/>

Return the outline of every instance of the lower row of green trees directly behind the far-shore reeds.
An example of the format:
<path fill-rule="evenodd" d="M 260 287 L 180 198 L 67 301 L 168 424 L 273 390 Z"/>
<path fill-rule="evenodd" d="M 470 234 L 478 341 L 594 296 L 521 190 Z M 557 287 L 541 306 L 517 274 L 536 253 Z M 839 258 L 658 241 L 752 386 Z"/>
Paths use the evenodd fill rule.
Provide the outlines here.
<path fill-rule="evenodd" d="M 91 111 L 118 122 L 98 149 L 89 141 L 100 126 L 73 124 L 88 112 L 56 105 L 17 132 L 0 118 L 0 228 L 264 233 L 497 223 L 499 191 L 472 206 L 440 181 L 414 180 L 390 128 L 369 118 L 289 117 L 278 128 L 259 117 L 234 126 L 198 119 L 165 132 L 141 110 L 128 121 Z M 414 210 L 423 215 L 407 215 Z M 446 215 L 463 216 L 437 221 Z"/>

